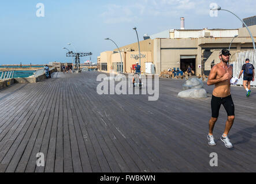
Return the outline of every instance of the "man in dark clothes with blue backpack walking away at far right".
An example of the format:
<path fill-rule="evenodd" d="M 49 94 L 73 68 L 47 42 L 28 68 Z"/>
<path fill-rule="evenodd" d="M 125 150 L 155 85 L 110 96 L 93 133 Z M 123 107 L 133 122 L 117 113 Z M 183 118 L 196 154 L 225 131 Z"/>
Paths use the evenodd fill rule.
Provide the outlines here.
<path fill-rule="evenodd" d="M 243 87 L 246 89 L 246 96 L 250 96 L 251 93 L 251 81 L 254 81 L 254 66 L 250 63 L 250 59 L 246 59 L 246 64 L 242 66 L 242 71 L 239 74 L 239 79 L 243 74 Z"/>

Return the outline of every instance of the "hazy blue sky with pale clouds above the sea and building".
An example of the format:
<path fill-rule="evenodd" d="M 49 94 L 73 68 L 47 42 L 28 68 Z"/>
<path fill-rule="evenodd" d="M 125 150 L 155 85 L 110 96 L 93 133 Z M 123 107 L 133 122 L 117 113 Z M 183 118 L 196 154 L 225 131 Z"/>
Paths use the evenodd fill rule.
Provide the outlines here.
<path fill-rule="evenodd" d="M 38 3 L 44 5 L 44 17 L 36 16 Z M 67 43 L 77 52 L 92 52 L 92 62 L 97 62 L 99 53 L 115 49 L 106 37 L 121 47 L 136 42 L 134 26 L 143 40 L 144 33 L 179 29 L 180 17 L 185 17 L 185 29 L 242 27 L 238 18 L 226 11 L 211 17 L 211 3 L 241 18 L 255 16 L 253 0 L 1 1 L 0 64 L 68 62 L 71 58 L 65 57 L 62 48 L 73 48 Z"/>

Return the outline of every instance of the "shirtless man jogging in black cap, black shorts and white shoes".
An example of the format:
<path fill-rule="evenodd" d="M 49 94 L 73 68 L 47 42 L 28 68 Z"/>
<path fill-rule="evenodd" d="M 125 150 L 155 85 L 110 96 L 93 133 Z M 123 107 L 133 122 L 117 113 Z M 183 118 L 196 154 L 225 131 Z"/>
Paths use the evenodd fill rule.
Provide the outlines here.
<path fill-rule="evenodd" d="M 228 120 L 225 125 L 225 131 L 221 136 L 221 141 L 223 141 L 225 146 L 228 148 L 233 147 L 228 138 L 228 133 L 235 120 L 235 106 L 231 97 L 230 87 L 233 69 L 232 66 L 228 65 L 230 55 L 231 54 L 229 53 L 228 49 L 222 49 L 220 51 L 219 57 L 221 62 L 212 68 L 207 81 L 207 85 L 215 85 L 211 101 L 212 118 L 210 118 L 209 121 L 209 134 L 207 135 L 208 144 L 216 145 L 213 137 L 213 128 L 216 121 L 218 120 L 220 106 L 222 104 L 227 112 Z"/>

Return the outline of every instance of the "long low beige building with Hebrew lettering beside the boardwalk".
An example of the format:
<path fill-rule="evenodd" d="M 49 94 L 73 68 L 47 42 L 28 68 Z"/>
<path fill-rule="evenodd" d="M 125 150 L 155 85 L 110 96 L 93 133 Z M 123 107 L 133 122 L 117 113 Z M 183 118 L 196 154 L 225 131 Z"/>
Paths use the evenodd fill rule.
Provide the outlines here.
<path fill-rule="evenodd" d="M 248 27 L 256 37 L 256 25 Z M 246 28 L 239 29 L 179 29 L 168 30 L 150 36 L 151 39 L 140 41 L 142 71 L 149 73 L 150 65 L 155 65 L 156 74 L 168 68 L 187 70 L 188 65 L 196 75 L 209 75 L 214 64 L 220 62 L 218 51 L 231 45 L 231 64 L 235 62 L 235 53 L 253 49 L 251 37 Z M 131 67 L 139 62 L 138 43 L 120 47 L 124 72 L 131 72 Z M 118 72 L 121 59 L 117 49 L 102 52 L 98 57 L 99 71 Z M 154 72 L 153 72 L 154 73 Z"/>

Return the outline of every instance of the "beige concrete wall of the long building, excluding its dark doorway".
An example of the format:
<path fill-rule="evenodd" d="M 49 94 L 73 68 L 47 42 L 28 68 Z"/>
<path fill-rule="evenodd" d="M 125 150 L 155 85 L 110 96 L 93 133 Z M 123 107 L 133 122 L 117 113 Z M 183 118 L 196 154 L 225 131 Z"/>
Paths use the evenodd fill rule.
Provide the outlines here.
<path fill-rule="evenodd" d="M 251 32 L 256 37 L 256 25 L 250 26 Z M 180 34 L 184 34 L 184 37 L 190 36 L 188 35 L 191 30 L 179 30 Z M 216 37 L 200 37 L 199 33 L 210 32 L 211 36 Z M 231 63 L 235 62 L 235 53 L 240 51 L 247 51 L 248 49 L 253 48 L 253 44 L 251 41 L 251 37 L 249 37 L 246 28 L 240 29 L 225 29 L 225 30 L 195 30 L 191 33 L 195 34 L 198 33 L 199 38 L 187 38 L 187 39 L 154 39 L 154 40 L 144 40 L 140 41 L 140 51 L 141 52 L 151 52 L 151 59 L 150 56 L 147 55 L 147 61 L 152 60 L 155 64 L 157 74 L 160 74 L 161 71 L 167 70 L 168 68 L 180 68 L 180 56 L 181 55 L 195 55 L 196 56 L 196 75 L 202 74 L 202 69 L 198 68 L 199 64 L 202 64 L 202 55 L 205 49 L 210 49 L 211 52 L 214 51 L 214 54 L 210 56 L 210 58 L 205 63 L 205 70 L 210 70 L 211 63 L 214 60 L 214 63 L 220 62 L 218 58 L 218 51 L 223 48 L 228 48 L 229 44 L 231 43 L 233 36 L 235 34 L 239 34 L 239 37 L 236 37 L 231 45 Z M 187 34 L 187 35 L 186 35 Z M 182 35 L 180 35 L 182 36 Z M 255 38 L 254 38 L 255 39 Z M 132 61 L 129 63 L 128 61 L 128 53 L 131 49 L 138 52 L 138 43 L 133 43 L 126 45 L 120 48 L 126 52 L 121 52 L 123 60 L 127 60 L 127 64 L 124 66 L 125 72 L 130 72 L 132 63 L 136 61 Z M 130 51 L 129 51 L 130 50 Z M 115 50 L 117 51 L 117 49 Z M 106 53 L 102 53 L 100 60 L 109 61 L 108 67 L 111 66 L 111 62 L 120 62 L 120 55 L 119 53 L 113 53 L 111 51 L 110 56 L 104 56 Z M 112 54 L 113 53 L 113 54 Z M 108 68 L 110 70 L 110 68 Z M 144 65 L 142 64 L 142 70 L 144 71 Z"/>

